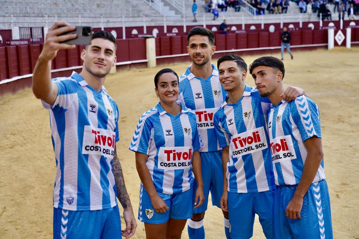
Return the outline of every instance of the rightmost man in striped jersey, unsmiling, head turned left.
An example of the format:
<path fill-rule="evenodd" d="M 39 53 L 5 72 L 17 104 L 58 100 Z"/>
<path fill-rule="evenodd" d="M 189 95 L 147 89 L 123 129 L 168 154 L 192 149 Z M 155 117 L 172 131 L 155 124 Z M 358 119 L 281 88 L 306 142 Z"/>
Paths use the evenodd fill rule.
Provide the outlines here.
<path fill-rule="evenodd" d="M 250 73 L 262 97 L 268 97 L 270 149 L 274 168 L 276 238 L 333 238 L 318 106 L 306 96 L 283 100 L 284 64 L 260 57 Z"/>

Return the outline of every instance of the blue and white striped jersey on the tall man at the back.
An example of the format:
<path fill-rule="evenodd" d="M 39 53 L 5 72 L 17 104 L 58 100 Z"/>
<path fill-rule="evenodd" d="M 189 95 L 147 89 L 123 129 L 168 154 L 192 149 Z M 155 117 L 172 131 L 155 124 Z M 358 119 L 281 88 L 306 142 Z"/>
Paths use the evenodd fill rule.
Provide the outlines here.
<path fill-rule="evenodd" d="M 191 66 L 180 76 L 180 94 L 178 100 L 195 111 L 197 127 L 203 140 L 203 147 L 200 152 L 213 152 L 221 148 L 216 138 L 213 115 L 222 105 L 227 94 L 222 88 L 218 79 L 218 70 L 212 64 L 212 75 L 207 79 L 196 77 L 191 72 Z"/>

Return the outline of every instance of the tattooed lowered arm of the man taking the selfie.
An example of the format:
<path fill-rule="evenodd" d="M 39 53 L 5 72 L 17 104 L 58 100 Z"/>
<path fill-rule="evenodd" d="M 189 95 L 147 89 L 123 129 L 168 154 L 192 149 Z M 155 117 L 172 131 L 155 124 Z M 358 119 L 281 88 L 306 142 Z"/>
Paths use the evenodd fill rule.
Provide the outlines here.
<path fill-rule="evenodd" d="M 122 236 L 129 238 L 135 234 L 137 223 L 135 220 L 134 212 L 132 210 L 130 197 L 126 190 L 121 164 L 117 157 L 116 145 L 115 153 L 113 154 L 112 171 L 116 182 L 117 198 L 123 207 L 123 218 L 125 219 L 126 223 L 126 229 L 122 230 Z"/>

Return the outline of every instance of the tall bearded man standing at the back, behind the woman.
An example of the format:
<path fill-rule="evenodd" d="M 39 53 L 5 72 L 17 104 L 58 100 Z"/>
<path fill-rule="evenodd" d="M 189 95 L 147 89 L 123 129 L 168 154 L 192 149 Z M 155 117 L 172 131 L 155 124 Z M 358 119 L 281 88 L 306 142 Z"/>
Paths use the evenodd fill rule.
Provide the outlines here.
<path fill-rule="evenodd" d="M 216 47 L 214 35 L 207 28 L 194 27 L 187 36 L 187 51 L 192 64 L 180 76 L 179 100 L 195 111 L 197 126 L 204 143 L 200 149 L 202 177 L 205 201 L 193 210 L 192 219 L 188 220 L 190 239 L 204 239 L 204 215 L 211 191 L 212 204 L 220 208 L 223 191 L 222 150 L 214 131 L 213 115 L 223 103 L 226 92 L 218 80 L 218 70 L 211 63 Z M 195 191 L 195 188 L 194 188 Z M 223 212 L 227 238 L 229 238 L 228 212 Z"/>

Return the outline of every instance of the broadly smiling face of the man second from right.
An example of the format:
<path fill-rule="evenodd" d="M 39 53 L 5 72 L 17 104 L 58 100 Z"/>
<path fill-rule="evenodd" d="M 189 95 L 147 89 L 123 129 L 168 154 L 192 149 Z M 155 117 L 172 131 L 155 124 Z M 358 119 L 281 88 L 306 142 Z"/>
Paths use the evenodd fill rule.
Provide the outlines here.
<path fill-rule="evenodd" d="M 218 66 L 219 81 L 225 91 L 244 89 L 247 72 L 241 70 L 234 61 L 223 61 Z"/>

